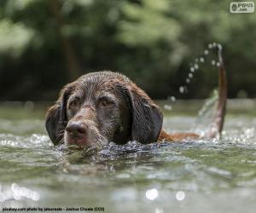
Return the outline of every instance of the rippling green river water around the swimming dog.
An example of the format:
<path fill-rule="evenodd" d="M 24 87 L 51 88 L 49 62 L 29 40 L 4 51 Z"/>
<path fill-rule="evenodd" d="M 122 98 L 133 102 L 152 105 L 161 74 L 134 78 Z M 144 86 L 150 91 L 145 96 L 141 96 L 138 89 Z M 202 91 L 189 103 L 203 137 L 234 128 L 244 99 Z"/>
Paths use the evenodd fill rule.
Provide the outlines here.
<path fill-rule="evenodd" d="M 195 112 L 184 113 L 182 106 L 192 105 L 181 103 L 183 113 L 165 111 L 169 132 L 189 130 L 195 123 Z M 255 111 L 240 111 L 228 115 L 221 140 L 148 146 L 110 143 L 97 153 L 73 152 L 52 146 L 44 130 L 43 109 L 2 106 L 0 209 L 254 212 L 255 126 Z"/>

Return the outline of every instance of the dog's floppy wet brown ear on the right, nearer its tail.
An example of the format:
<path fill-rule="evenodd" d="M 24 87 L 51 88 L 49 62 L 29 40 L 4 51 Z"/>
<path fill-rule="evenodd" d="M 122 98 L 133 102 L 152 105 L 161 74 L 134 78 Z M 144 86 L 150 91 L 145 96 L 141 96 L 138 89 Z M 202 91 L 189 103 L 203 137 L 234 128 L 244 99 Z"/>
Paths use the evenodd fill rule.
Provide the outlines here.
<path fill-rule="evenodd" d="M 132 114 L 131 139 L 144 144 L 157 141 L 163 124 L 160 108 L 135 83 L 131 83 L 129 93 Z"/>

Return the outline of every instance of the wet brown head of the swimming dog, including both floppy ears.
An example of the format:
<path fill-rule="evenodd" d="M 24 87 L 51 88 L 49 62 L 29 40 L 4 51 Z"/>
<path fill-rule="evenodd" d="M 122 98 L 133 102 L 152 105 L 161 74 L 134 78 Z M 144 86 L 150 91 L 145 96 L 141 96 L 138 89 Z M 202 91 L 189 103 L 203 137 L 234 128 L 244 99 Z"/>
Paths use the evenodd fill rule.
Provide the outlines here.
<path fill-rule="evenodd" d="M 61 90 L 49 108 L 46 129 L 55 145 L 92 147 L 157 141 L 162 122 L 159 107 L 129 78 L 91 72 Z"/>

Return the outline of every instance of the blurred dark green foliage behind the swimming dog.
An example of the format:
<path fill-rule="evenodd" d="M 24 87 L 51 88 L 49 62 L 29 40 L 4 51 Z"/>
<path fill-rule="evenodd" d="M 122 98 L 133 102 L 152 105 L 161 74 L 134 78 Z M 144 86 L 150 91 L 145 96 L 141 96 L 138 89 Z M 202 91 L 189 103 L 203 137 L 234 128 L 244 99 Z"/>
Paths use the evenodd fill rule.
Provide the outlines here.
<path fill-rule="evenodd" d="M 208 43 L 224 46 L 229 97 L 256 97 L 256 15 L 227 0 L 1 0 L 0 101 L 53 101 L 61 87 L 99 70 L 125 73 L 154 99 L 205 98 L 216 55 L 179 94 Z"/>

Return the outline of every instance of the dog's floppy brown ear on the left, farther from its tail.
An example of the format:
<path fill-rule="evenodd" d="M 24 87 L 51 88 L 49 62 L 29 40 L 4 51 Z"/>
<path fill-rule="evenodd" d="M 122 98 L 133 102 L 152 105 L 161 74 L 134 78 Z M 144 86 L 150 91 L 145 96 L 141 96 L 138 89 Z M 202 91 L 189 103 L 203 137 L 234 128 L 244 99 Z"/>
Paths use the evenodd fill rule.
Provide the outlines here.
<path fill-rule="evenodd" d="M 61 90 L 58 101 L 49 108 L 46 115 L 45 127 L 50 140 L 54 145 L 58 145 L 63 141 L 64 130 L 67 125 L 67 99 L 71 94 L 74 83 L 69 83 Z"/>

